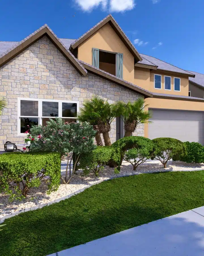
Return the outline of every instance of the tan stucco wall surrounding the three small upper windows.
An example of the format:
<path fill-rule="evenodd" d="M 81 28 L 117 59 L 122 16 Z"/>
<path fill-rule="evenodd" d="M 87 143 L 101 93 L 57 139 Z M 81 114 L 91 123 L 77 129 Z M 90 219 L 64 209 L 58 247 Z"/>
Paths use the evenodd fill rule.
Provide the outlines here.
<path fill-rule="evenodd" d="M 162 88 L 154 88 L 154 74 L 162 75 Z M 164 76 L 171 77 L 171 90 L 164 90 Z M 174 77 L 180 78 L 180 92 L 174 90 Z M 173 76 L 169 73 L 160 73 L 156 70 L 150 71 L 150 88 L 151 92 L 165 93 L 165 94 L 176 94 L 181 96 L 188 96 L 188 77 Z"/>

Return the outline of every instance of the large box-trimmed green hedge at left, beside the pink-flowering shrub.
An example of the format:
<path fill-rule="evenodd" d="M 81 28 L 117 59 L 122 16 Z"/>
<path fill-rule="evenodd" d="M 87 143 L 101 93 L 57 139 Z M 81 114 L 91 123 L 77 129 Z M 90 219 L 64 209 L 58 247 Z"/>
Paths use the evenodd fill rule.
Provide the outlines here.
<path fill-rule="evenodd" d="M 22 199 L 31 187 L 44 181 L 49 194 L 59 187 L 60 169 L 60 154 L 56 152 L 1 154 L 0 191 L 10 195 L 10 200 Z"/>

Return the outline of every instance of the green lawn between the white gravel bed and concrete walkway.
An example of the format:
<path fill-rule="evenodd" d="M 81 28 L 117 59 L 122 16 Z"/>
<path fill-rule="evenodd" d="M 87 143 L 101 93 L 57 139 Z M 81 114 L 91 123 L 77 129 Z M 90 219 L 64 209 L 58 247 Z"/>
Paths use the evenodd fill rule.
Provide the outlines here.
<path fill-rule="evenodd" d="M 117 178 L 5 220 L 0 255 L 44 256 L 203 205 L 204 171 Z"/>

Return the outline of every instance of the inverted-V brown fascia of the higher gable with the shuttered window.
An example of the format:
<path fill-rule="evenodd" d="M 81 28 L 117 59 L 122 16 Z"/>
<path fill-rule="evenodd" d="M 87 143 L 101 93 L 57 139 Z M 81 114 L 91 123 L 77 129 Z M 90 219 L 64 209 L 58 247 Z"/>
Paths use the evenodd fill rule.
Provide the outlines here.
<path fill-rule="evenodd" d="M 142 61 L 141 56 L 135 49 L 135 47 L 131 44 L 129 39 L 126 37 L 120 26 L 117 24 L 117 22 L 114 20 L 114 18 L 109 14 L 106 18 L 104 18 L 101 22 L 96 24 L 93 28 L 88 30 L 84 35 L 82 35 L 76 42 L 71 44 L 70 50 L 74 50 L 76 47 L 78 47 L 80 44 L 82 44 L 86 39 L 88 39 L 90 36 L 92 36 L 97 30 L 99 30 L 101 27 L 103 27 L 105 24 L 109 23 L 113 30 L 116 32 L 116 34 L 120 37 L 122 42 L 125 44 L 125 46 L 129 49 L 129 51 L 132 53 L 132 55 L 135 57 L 136 61 Z"/>

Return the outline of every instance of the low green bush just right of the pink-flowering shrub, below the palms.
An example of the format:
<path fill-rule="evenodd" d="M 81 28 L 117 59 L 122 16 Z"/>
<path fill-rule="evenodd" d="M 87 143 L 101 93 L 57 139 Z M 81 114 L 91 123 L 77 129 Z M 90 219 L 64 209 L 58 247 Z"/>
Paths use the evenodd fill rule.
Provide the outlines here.
<path fill-rule="evenodd" d="M 84 174 L 92 171 L 98 176 L 109 160 L 114 158 L 114 154 L 114 148 L 111 146 L 97 146 L 90 154 L 83 154 L 80 157 L 78 169 L 82 169 Z"/>

